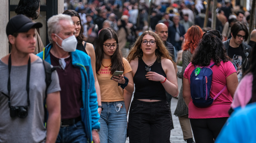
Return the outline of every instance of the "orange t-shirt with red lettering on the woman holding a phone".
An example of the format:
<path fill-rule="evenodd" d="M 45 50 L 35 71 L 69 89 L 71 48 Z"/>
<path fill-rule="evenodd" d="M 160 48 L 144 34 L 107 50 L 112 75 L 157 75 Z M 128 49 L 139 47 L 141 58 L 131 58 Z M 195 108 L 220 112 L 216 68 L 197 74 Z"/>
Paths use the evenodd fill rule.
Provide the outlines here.
<path fill-rule="evenodd" d="M 109 66 L 111 64 L 111 59 L 102 59 L 102 64 L 104 66 Z M 101 101 L 102 102 L 114 102 L 114 101 L 124 101 L 123 98 L 123 89 L 118 86 L 118 83 L 114 80 L 111 80 L 111 67 L 105 68 L 101 65 L 100 70 L 97 74 L 97 79 L 100 85 L 101 90 Z M 132 68 L 129 62 L 123 58 L 123 74 L 132 71 Z"/>

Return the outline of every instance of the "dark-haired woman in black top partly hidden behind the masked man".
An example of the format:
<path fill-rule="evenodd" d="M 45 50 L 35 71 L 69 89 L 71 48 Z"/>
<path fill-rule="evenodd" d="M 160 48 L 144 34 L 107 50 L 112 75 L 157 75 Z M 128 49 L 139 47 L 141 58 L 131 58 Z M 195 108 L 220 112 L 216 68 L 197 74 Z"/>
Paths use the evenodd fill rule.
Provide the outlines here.
<path fill-rule="evenodd" d="M 100 86 L 98 83 L 98 79 L 96 76 L 96 70 L 95 70 L 95 52 L 94 52 L 94 47 L 91 43 L 86 43 L 85 37 L 83 35 L 83 26 L 81 23 L 81 18 L 80 15 L 75 11 L 75 10 L 65 10 L 62 14 L 67 14 L 70 15 L 74 26 L 75 26 L 75 36 L 77 39 L 77 46 L 76 49 L 80 51 L 84 51 L 86 54 L 88 54 L 91 57 L 91 64 L 92 64 L 92 71 L 93 71 L 93 76 L 94 76 L 94 81 L 95 81 L 95 89 L 97 93 L 97 101 L 98 101 L 98 106 L 101 106 L 101 94 L 100 94 Z M 98 108 L 98 113 L 101 113 L 101 108 Z"/>

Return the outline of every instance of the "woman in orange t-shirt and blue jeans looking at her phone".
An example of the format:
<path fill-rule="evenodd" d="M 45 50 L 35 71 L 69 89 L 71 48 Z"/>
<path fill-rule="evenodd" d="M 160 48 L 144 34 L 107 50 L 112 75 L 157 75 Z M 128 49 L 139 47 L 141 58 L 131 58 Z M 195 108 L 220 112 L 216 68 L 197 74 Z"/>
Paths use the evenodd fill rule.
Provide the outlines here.
<path fill-rule="evenodd" d="M 123 92 L 133 93 L 133 75 L 129 62 L 122 57 L 117 34 L 113 29 L 105 28 L 100 31 L 95 54 L 103 107 L 99 119 L 100 141 L 101 143 L 125 143 L 127 99 L 124 98 Z M 122 71 L 123 74 L 112 77 L 115 71 Z M 128 100 L 131 101 L 131 99 Z"/>

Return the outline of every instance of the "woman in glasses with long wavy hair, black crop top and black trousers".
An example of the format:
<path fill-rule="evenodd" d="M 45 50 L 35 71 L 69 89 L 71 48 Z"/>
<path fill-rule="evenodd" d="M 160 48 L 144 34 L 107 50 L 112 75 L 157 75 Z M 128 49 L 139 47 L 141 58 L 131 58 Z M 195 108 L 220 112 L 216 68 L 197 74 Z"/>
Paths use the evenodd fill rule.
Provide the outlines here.
<path fill-rule="evenodd" d="M 165 91 L 177 94 L 175 63 L 158 34 L 152 31 L 139 36 L 127 60 L 135 83 L 128 121 L 130 142 L 170 143 L 172 122 Z M 124 96 L 130 99 L 132 93 L 125 92 Z"/>

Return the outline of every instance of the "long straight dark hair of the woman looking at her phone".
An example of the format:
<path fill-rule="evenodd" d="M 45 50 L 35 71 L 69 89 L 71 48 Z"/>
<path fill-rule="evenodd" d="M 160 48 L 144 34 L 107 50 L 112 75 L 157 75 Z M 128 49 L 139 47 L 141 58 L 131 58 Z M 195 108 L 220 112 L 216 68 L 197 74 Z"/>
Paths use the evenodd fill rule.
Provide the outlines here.
<path fill-rule="evenodd" d="M 103 49 L 105 46 L 103 46 L 103 43 L 108 40 L 108 39 L 115 39 L 118 44 L 118 39 L 117 39 L 117 34 L 112 28 L 105 28 L 102 29 L 99 33 L 99 38 L 98 38 L 98 44 L 95 47 L 95 56 L 96 56 L 96 73 L 98 74 L 98 71 L 101 68 L 101 63 L 103 59 Z M 111 74 L 113 74 L 115 71 L 123 71 L 123 56 L 119 50 L 119 46 L 117 45 L 116 51 L 114 54 L 111 56 Z"/>

